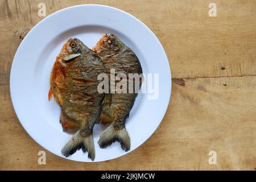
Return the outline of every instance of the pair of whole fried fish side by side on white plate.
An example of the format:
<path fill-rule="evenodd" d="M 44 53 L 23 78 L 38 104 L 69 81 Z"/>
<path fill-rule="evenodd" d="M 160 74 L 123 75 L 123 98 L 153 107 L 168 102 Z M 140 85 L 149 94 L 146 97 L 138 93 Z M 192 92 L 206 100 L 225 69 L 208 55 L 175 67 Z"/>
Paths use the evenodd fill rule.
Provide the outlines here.
<path fill-rule="evenodd" d="M 109 124 L 100 135 L 101 148 L 118 141 L 123 150 L 130 150 L 125 121 L 138 92 L 99 93 L 97 90 L 101 82 L 97 80 L 98 75 L 106 73 L 110 77 L 113 68 L 127 77 L 129 73 L 142 73 L 138 57 L 113 34 L 104 34 L 93 50 L 76 38 L 68 39 L 61 48 L 51 71 L 48 99 L 53 95 L 61 107 L 63 130 L 75 133 L 61 150 L 64 156 L 81 148 L 88 152 L 88 158 L 95 159 L 92 133 L 98 121 Z"/>

